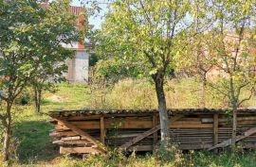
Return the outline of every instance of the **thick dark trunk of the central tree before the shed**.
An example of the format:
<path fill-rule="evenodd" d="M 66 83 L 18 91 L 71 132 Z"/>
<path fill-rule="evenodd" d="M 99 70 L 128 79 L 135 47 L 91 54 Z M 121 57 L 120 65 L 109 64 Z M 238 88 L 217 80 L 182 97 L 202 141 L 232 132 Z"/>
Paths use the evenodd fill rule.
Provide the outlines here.
<path fill-rule="evenodd" d="M 159 111 L 159 119 L 161 126 L 161 142 L 164 146 L 166 146 L 169 142 L 169 118 L 166 109 L 166 99 L 163 89 L 164 84 L 164 73 L 157 72 L 155 74 L 155 92 L 158 101 L 158 111 Z"/>

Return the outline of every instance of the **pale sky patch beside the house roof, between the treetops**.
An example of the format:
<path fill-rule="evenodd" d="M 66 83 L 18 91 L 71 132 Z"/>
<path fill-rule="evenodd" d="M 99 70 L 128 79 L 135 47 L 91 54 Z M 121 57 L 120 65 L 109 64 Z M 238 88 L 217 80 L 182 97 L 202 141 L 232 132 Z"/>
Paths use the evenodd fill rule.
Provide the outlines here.
<path fill-rule="evenodd" d="M 94 17 L 89 18 L 89 24 L 94 25 L 94 29 L 100 29 L 101 23 L 103 22 L 103 16 L 107 11 L 107 0 L 98 0 L 99 6 L 101 8 L 101 12 Z M 72 6 L 81 6 L 81 2 L 79 0 L 73 0 Z"/>

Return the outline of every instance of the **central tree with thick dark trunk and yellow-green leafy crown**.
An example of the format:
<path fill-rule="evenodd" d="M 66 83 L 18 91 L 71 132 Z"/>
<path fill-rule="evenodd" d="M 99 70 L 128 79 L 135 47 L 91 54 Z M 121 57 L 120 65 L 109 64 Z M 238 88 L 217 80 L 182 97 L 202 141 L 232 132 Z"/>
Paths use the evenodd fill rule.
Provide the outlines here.
<path fill-rule="evenodd" d="M 174 57 L 188 44 L 190 5 L 189 0 L 115 1 L 101 30 L 105 55 L 137 64 L 140 73 L 154 80 L 163 145 L 170 137 L 165 76 L 174 70 Z"/>

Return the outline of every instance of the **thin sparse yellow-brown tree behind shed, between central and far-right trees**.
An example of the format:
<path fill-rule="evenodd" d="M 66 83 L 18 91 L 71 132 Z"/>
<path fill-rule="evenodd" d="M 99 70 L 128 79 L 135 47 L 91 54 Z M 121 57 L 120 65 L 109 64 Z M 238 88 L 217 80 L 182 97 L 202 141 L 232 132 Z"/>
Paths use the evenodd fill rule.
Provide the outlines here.
<path fill-rule="evenodd" d="M 203 32 L 209 31 L 212 25 L 212 17 L 214 15 L 208 14 L 211 7 L 209 1 L 195 0 L 192 3 L 192 38 L 190 39 L 190 45 L 187 47 L 187 52 L 182 52 L 178 59 L 176 66 L 177 74 L 182 76 L 196 76 L 200 82 L 200 108 L 206 106 L 206 86 L 207 75 L 212 69 L 213 65 L 209 63 L 210 55 L 207 54 L 207 48 L 204 45 L 204 39 L 207 38 L 207 34 Z"/>

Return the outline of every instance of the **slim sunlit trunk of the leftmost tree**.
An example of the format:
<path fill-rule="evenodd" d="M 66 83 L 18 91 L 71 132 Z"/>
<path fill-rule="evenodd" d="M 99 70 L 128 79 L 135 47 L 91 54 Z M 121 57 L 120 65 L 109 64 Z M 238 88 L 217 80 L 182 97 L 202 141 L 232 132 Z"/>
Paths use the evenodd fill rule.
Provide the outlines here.
<path fill-rule="evenodd" d="M 5 120 L 4 125 L 4 157 L 3 161 L 8 161 L 9 160 L 9 145 L 10 145 L 10 139 L 11 139 L 11 104 L 8 103 L 7 106 L 7 118 Z"/>

